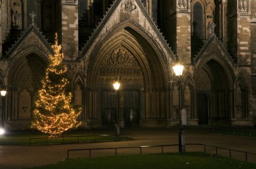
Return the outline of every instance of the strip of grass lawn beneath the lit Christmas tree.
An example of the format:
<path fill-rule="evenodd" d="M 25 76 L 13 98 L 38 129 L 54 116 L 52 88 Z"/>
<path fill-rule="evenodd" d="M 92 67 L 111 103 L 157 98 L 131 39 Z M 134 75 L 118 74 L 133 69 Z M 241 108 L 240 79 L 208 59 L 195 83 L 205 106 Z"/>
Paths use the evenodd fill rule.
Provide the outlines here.
<path fill-rule="evenodd" d="M 44 133 L 12 133 L 0 136 L 0 145 L 46 145 L 46 144 L 77 144 L 86 142 L 107 142 L 129 139 L 127 135 L 115 137 L 105 133 L 87 133 L 86 131 L 69 131 L 63 137 L 49 137 Z M 79 137 L 77 137 L 79 136 Z"/>

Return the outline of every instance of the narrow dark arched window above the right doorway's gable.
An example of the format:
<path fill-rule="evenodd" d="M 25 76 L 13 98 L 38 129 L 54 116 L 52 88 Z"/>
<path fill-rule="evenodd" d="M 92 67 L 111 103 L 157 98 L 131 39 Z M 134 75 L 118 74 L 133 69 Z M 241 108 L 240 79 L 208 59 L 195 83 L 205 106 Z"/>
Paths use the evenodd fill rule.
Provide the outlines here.
<path fill-rule="evenodd" d="M 203 5 L 199 2 L 193 5 L 192 30 L 193 36 L 203 39 Z"/>

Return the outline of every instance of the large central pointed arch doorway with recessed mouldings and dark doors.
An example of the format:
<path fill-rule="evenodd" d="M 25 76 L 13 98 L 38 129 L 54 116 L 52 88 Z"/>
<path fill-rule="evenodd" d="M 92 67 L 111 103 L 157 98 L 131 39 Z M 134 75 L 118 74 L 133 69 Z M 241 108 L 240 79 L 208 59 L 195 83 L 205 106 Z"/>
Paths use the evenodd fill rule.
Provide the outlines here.
<path fill-rule="evenodd" d="M 150 43 L 129 23 L 99 43 L 88 62 L 87 118 L 90 122 L 94 120 L 98 127 L 115 123 L 117 100 L 113 83 L 119 80 L 121 126 L 166 126 L 168 62 Z"/>

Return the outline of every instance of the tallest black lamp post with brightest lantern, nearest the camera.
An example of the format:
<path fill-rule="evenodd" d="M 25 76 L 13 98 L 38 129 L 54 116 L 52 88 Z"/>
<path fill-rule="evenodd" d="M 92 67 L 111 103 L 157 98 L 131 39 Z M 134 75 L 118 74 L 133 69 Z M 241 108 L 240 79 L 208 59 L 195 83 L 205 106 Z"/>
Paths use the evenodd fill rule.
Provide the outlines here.
<path fill-rule="evenodd" d="M 175 75 L 178 77 L 178 85 L 179 85 L 179 152 L 180 153 L 185 153 L 186 151 L 186 145 L 185 145 L 185 136 L 184 136 L 184 131 L 183 131 L 183 123 L 181 120 L 181 95 L 182 95 L 182 74 L 183 74 L 183 68 L 184 66 L 181 64 L 177 64 L 172 67 L 174 70 Z"/>

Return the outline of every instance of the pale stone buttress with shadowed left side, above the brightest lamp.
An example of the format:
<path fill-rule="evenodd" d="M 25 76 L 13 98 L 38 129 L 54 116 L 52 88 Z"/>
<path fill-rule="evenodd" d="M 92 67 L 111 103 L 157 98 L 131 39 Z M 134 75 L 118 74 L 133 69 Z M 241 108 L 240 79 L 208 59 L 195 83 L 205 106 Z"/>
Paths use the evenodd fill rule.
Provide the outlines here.
<path fill-rule="evenodd" d="M 164 1 L 164 34 L 182 64 L 191 63 L 191 11 L 189 0 Z"/>

